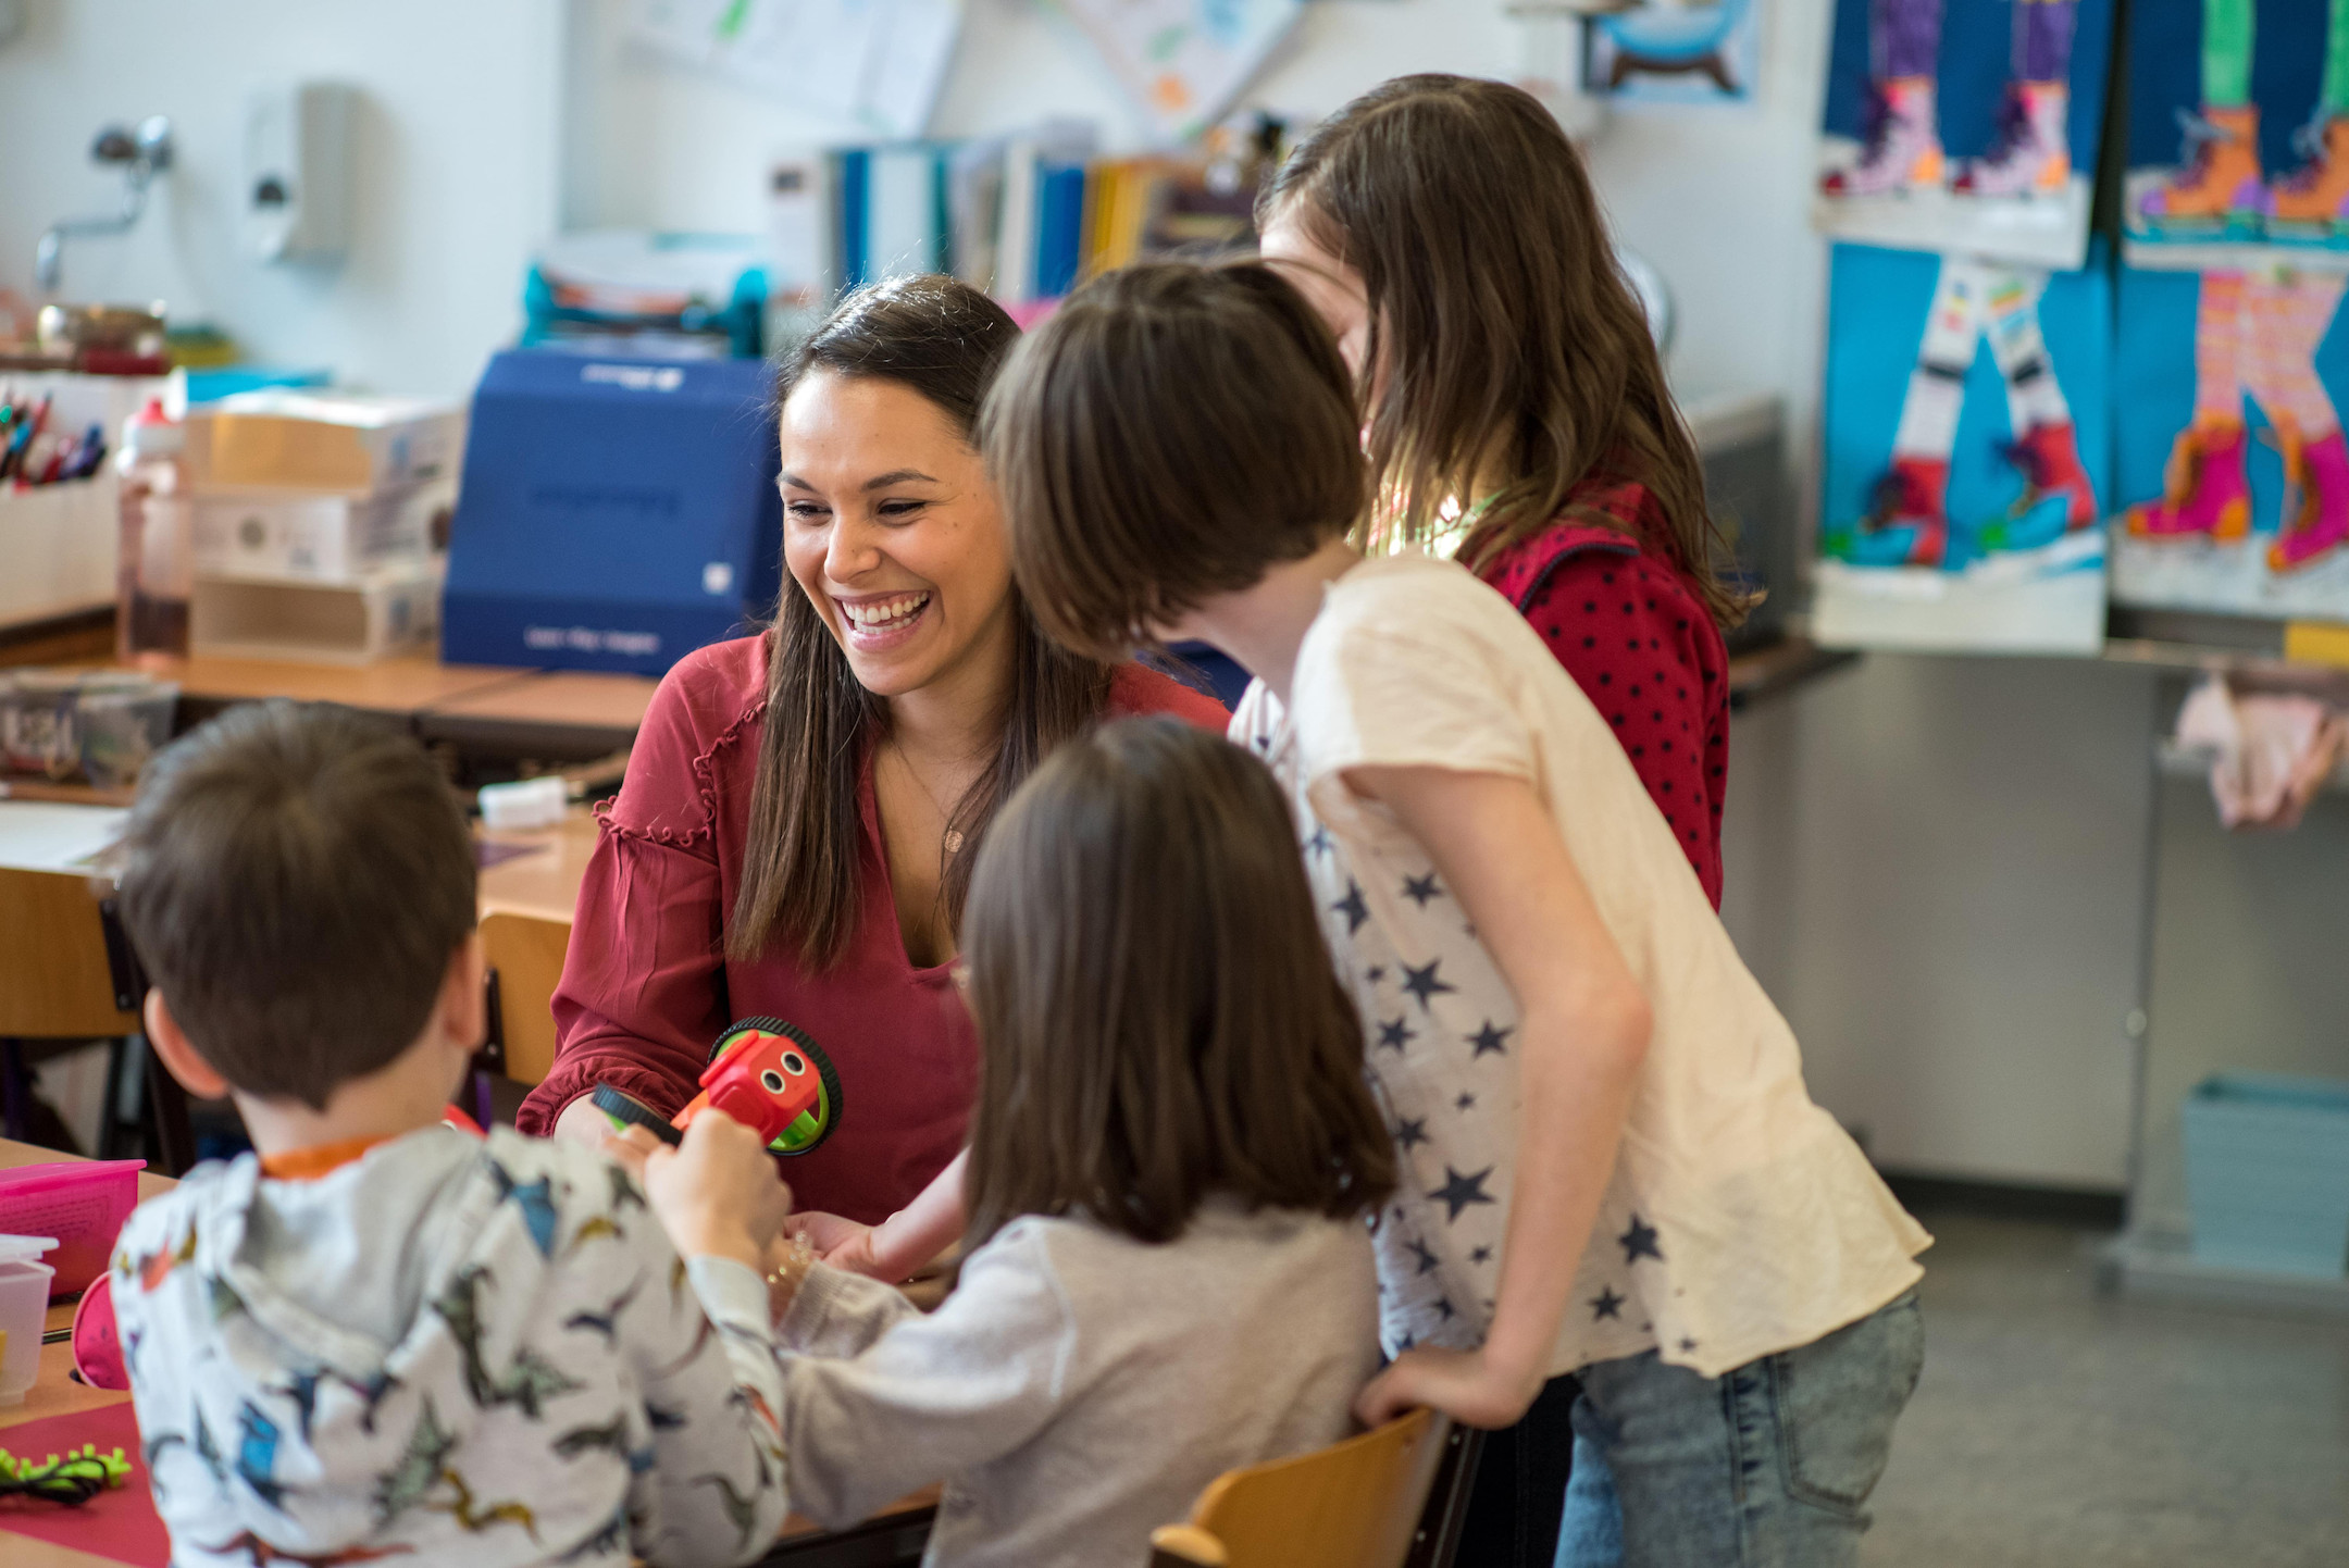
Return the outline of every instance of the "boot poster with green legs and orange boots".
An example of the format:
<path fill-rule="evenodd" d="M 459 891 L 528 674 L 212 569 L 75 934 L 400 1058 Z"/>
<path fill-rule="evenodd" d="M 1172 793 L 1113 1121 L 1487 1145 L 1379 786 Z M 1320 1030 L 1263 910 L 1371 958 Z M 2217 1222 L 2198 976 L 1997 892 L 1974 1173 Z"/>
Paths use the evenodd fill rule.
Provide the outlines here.
<path fill-rule="evenodd" d="M 2349 270 L 2349 0 L 2138 0 L 2126 261 Z"/>

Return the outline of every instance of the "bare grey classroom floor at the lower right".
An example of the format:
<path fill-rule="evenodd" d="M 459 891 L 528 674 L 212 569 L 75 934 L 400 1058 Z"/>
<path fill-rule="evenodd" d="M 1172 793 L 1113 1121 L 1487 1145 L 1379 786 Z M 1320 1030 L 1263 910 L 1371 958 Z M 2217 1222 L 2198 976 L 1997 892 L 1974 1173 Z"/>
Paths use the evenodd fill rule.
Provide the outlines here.
<path fill-rule="evenodd" d="M 1870 1568 L 2349 1563 L 2349 1319 L 2107 1298 L 2086 1232 L 1926 1225 Z"/>

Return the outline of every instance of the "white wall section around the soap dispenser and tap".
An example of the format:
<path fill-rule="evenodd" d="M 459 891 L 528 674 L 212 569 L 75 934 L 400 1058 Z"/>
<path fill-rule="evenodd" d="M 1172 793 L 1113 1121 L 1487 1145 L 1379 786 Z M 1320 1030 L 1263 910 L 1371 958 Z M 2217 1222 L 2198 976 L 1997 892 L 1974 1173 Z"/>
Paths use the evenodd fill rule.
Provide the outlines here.
<path fill-rule="evenodd" d="M 402 392 L 463 392 L 519 322 L 559 202 L 561 0 L 31 0 L 0 47 L 0 286 L 31 293 L 56 218 L 113 211 L 106 122 L 164 113 L 181 162 L 127 239 L 66 246 L 66 298 L 162 298 L 256 359 Z M 247 261 L 244 101 L 357 89 L 355 228 L 338 268 Z"/>

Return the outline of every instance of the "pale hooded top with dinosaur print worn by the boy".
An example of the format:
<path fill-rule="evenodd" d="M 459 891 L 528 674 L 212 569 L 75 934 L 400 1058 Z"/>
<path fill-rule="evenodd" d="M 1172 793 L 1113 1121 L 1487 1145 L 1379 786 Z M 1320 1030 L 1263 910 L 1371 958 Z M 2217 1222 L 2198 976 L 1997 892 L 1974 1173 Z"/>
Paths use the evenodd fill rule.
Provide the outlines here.
<path fill-rule="evenodd" d="M 679 1258 L 592 1150 L 423 1129 L 315 1181 L 200 1167 L 113 1270 L 181 1568 L 735 1563 L 789 1509 L 766 1286 Z"/>

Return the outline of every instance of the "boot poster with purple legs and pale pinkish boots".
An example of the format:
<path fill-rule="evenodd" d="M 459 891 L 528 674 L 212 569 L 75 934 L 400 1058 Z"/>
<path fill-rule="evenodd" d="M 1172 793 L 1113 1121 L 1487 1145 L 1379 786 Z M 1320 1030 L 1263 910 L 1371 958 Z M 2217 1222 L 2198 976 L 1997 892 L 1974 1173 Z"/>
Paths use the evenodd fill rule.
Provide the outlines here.
<path fill-rule="evenodd" d="M 2114 0 L 1837 0 L 1813 225 L 2079 268 L 2112 14 Z"/>

